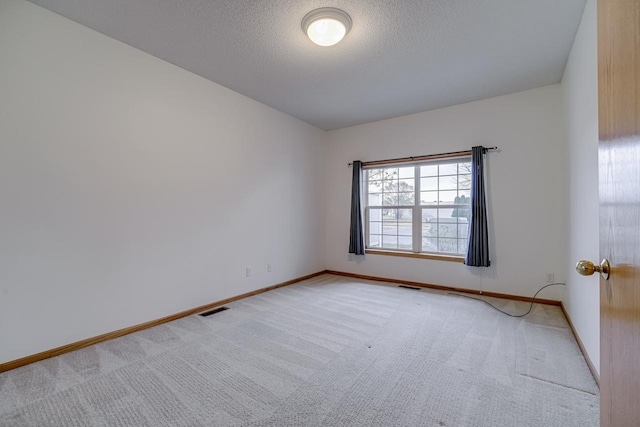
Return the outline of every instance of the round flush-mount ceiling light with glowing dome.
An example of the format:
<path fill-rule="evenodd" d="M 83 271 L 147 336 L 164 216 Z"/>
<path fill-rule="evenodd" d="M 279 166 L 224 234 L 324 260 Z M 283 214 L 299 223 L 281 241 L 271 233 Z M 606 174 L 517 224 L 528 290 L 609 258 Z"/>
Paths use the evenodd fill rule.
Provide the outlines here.
<path fill-rule="evenodd" d="M 334 7 L 312 10 L 302 18 L 302 31 L 317 45 L 333 46 L 351 29 L 351 17 Z"/>

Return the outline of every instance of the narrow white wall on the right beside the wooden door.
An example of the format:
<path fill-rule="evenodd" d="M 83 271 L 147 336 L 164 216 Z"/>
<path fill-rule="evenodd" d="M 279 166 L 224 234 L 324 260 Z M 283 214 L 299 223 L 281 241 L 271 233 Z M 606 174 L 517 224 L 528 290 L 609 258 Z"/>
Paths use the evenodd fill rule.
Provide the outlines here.
<path fill-rule="evenodd" d="M 598 55 L 596 0 L 589 0 L 562 78 L 565 103 L 568 185 L 567 289 L 564 304 L 589 358 L 600 369 L 598 276 L 574 269 L 598 254 Z"/>

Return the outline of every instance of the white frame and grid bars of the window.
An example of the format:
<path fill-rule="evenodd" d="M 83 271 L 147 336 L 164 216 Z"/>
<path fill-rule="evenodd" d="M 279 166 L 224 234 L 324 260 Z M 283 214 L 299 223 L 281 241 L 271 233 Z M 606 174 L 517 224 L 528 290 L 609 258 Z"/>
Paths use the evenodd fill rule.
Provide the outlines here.
<path fill-rule="evenodd" d="M 442 259 L 449 259 L 449 260 L 454 260 L 454 261 L 462 261 L 464 260 L 464 253 L 461 252 L 445 252 L 445 251 L 428 251 L 428 250 L 424 250 L 422 247 L 422 225 L 423 225 L 423 215 L 422 215 L 422 210 L 423 209 L 470 209 L 470 205 L 466 205 L 466 204 L 455 204 L 455 203 L 443 203 L 440 204 L 439 200 L 437 201 L 436 204 L 422 204 L 421 201 L 421 173 L 420 173 L 420 167 L 421 166 L 426 166 L 426 165 L 446 165 L 446 164 L 459 164 L 459 163 L 471 163 L 471 156 L 470 155 L 463 155 L 463 156 L 452 156 L 452 157 L 442 157 L 442 156 L 436 156 L 435 159 L 428 159 L 428 160 L 422 160 L 422 161 L 410 161 L 410 162 L 398 162 L 398 163 L 389 163 L 389 162 L 375 162 L 375 163 L 370 163 L 370 164 L 366 164 L 363 167 L 363 172 L 364 172 L 364 187 L 365 187 L 365 194 L 364 196 L 364 205 L 365 205 L 365 250 L 368 253 L 376 253 L 376 254 L 385 254 L 385 255 L 400 255 L 400 256 L 411 256 L 411 257 L 424 257 L 424 258 L 442 258 Z M 376 169 L 387 169 L 387 168 L 407 168 L 407 167 L 413 167 L 414 168 L 414 174 L 413 174 L 413 180 L 414 180 L 414 197 L 413 197 L 413 205 L 384 205 L 383 201 L 381 200 L 380 205 L 369 205 L 369 171 L 370 170 L 376 170 Z M 458 169 L 456 172 L 456 176 L 460 176 L 462 175 L 460 173 L 460 170 Z M 466 175 L 466 174 L 465 174 Z M 453 176 L 453 175 L 440 175 L 440 172 L 438 172 L 438 191 L 446 191 L 446 190 L 440 190 L 440 184 L 439 184 L 439 180 L 440 177 L 445 177 L 445 176 Z M 457 186 L 456 186 L 456 191 L 457 194 L 460 195 L 461 192 L 462 193 L 466 193 L 470 196 L 471 193 L 471 188 L 470 188 L 470 184 L 469 184 L 469 188 L 463 188 L 460 189 L 460 181 L 459 179 L 457 180 Z M 438 193 L 439 194 L 439 193 Z M 380 236 L 380 246 L 376 246 L 376 247 L 371 247 L 370 246 L 370 237 L 371 237 L 371 209 L 411 209 L 412 211 L 412 219 L 411 219 L 411 224 L 412 224 L 412 244 L 411 244 L 411 249 L 400 249 L 400 248 L 385 248 L 383 245 L 383 241 L 384 241 L 384 233 L 381 232 L 381 234 L 379 234 Z M 456 220 L 456 237 L 455 239 L 460 240 L 460 228 L 459 228 L 459 222 L 460 220 L 457 219 Z M 441 223 L 439 221 L 436 221 L 436 227 L 438 227 L 439 229 L 439 225 Z M 381 222 L 381 227 L 384 227 L 383 223 Z M 468 225 L 467 225 L 467 236 L 466 238 L 468 239 Z M 376 234 L 378 235 L 378 234 Z M 444 238 L 444 237 L 443 237 Z M 397 236 L 398 242 L 400 239 L 400 236 Z M 439 243 L 439 239 L 440 237 L 437 236 L 436 239 L 438 240 Z M 460 242 L 458 242 L 460 243 Z M 399 246 L 399 243 L 398 245 Z M 466 245 L 465 245 L 466 246 Z"/>

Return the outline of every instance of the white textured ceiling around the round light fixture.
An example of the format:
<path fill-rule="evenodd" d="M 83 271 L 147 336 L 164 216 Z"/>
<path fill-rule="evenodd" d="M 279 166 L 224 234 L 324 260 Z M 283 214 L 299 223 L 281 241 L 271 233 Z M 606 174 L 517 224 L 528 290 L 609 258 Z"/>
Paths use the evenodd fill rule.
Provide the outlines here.
<path fill-rule="evenodd" d="M 586 0 L 32 0 L 323 129 L 560 81 Z M 333 47 L 303 16 L 333 6 Z"/>

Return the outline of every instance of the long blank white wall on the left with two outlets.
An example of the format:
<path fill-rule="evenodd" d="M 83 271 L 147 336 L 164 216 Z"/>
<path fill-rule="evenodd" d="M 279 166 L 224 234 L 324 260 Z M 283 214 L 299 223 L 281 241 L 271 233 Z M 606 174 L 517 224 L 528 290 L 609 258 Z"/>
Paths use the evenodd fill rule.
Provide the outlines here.
<path fill-rule="evenodd" d="M 324 269 L 324 131 L 22 0 L 0 58 L 0 363 Z"/>

